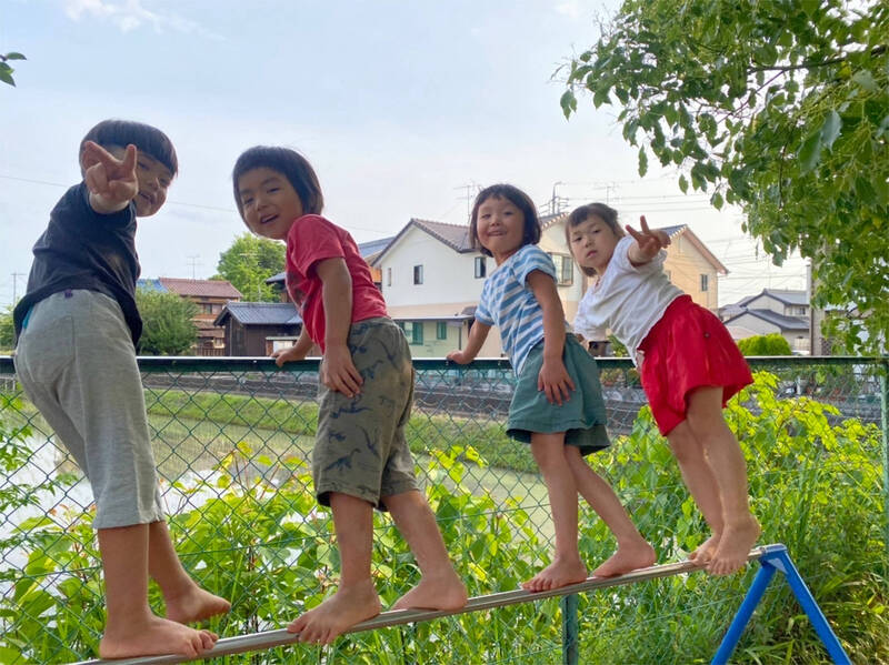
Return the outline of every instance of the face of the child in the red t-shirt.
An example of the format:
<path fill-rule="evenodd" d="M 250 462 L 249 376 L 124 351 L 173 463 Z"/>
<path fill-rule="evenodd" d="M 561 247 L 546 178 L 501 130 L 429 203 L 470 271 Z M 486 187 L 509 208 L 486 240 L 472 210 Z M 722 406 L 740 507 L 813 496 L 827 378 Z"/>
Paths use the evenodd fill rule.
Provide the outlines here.
<path fill-rule="evenodd" d="M 302 216 L 302 201 L 280 171 L 260 167 L 238 179 L 241 216 L 250 230 L 272 240 L 287 240 L 293 221 Z"/>

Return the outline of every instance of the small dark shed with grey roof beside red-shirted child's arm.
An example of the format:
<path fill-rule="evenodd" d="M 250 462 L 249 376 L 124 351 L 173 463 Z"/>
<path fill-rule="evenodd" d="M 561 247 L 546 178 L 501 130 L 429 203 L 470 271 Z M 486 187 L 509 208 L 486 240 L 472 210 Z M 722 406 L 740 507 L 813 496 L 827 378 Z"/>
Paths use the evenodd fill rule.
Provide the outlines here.
<path fill-rule="evenodd" d="M 292 302 L 230 302 L 213 321 L 221 326 L 229 355 L 268 356 L 292 345 L 302 319 Z M 317 349 L 309 355 L 320 355 Z"/>

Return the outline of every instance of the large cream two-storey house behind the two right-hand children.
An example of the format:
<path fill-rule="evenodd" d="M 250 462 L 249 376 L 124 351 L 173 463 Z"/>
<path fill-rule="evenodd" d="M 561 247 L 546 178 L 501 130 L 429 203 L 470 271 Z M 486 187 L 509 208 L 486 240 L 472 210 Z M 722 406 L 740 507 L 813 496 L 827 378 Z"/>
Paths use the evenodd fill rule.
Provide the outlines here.
<path fill-rule="evenodd" d="M 541 218 L 540 248 L 550 254 L 565 314 L 572 321 L 589 280 L 575 264 L 565 241 L 567 213 Z M 696 302 L 715 310 L 717 276 L 728 271 L 682 224 L 663 229 L 672 244 L 665 270 Z M 372 262 L 382 273 L 389 313 L 402 326 L 414 356 L 443 356 L 466 344 L 485 278 L 496 265 L 469 242 L 469 226 L 411 219 Z M 502 355 L 497 329 L 480 357 Z"/>

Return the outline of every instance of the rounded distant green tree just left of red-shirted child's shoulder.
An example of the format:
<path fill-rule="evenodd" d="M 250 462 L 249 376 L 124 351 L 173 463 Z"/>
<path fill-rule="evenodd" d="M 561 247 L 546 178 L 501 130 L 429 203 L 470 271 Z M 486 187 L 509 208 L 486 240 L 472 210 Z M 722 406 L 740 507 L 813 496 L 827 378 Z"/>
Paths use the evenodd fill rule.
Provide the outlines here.
<path fill-rule="evenodd" d="M 278 295 L 266 280 L 283 269 L 283 244 L 244 233 L 219 255 L 217 276 L 231 282 L 246 301 L 277 302 Z"/>

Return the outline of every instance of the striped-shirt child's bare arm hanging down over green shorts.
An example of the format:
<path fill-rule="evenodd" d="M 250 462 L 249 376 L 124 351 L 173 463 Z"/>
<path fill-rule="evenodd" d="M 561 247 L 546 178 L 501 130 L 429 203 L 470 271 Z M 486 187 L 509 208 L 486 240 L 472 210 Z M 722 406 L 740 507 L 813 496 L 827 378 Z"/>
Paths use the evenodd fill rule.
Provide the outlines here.
<path fill-rule="evenodd" d="M 546 391 L 550 403 L 567 402 L 575 382 L 562 362 L 565 351 L 565 310 L 556 282 L 551 275 L 539 270 L 528 274 L 528 285 L 543 310 L 543 366 L 537 377 L 537 390 Z"/>

